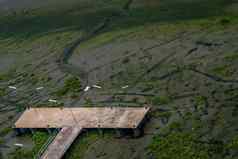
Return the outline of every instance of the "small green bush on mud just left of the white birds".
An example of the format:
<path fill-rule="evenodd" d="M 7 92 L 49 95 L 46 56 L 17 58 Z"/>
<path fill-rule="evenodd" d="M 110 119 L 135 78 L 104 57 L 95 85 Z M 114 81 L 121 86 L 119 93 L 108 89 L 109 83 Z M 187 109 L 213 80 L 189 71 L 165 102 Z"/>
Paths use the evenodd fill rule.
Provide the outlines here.
<path fill-rule="evenodd" d="M 71 77 L 64 82 L 64 87 L 59 89 L 56 92 L 56 95 L 61 97 L 61 96 L 66 95 L 69 92 L 76 94 L 76 93 L 79 93 L 80 90 L 81 90 L 81 82 L 80 82 L 79 78 Z"/>

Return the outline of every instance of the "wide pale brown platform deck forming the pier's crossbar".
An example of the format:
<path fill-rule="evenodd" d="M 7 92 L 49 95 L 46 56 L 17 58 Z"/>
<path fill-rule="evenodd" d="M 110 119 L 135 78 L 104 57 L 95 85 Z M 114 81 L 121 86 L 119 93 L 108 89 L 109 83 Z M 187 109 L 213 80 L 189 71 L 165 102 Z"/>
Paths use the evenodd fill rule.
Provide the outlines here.
<path fill-rule="evenodd" d="M 136 128 L 149 107 L 30 108 L 16 128 Z"/>

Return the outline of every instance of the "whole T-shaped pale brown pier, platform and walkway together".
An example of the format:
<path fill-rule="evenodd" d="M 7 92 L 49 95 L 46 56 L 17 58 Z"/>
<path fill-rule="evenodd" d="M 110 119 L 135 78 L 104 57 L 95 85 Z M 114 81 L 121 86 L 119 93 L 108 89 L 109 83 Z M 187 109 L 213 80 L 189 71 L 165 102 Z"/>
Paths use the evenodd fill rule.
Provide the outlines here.
<path fill-rule="evenodd" d="M 85 128 L 136 129 L 148 107 L 30 108 L 15 128 L 62 128 L 40 159 L 60 159 Z"/>

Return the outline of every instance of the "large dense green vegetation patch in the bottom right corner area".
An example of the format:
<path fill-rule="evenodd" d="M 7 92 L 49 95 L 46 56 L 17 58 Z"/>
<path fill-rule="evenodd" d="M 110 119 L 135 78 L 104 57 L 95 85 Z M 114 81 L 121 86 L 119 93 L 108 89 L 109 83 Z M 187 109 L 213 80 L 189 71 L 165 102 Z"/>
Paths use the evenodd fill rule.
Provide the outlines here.
<path fill-rule="evenodd" d="M 212 159 L 216 146 L 198 141 L 191 133 L 172 132 L 154 137 L 149 151 L 156 159 Z M 222 153 L 218 151 L 218 153 Z M 215 158 L 214 158 L 215 159 Z"/>

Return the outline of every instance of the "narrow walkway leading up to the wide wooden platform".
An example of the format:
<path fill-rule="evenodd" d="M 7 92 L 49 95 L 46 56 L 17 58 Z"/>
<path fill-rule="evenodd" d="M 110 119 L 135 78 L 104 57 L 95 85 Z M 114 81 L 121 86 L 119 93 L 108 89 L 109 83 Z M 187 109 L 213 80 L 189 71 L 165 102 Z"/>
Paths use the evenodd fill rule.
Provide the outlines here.
<path fill-rule="evenodd" d="M 82 131 L 80 127 L 64 127 L 48 146 L 41 159 L 60 159 Z"/>

